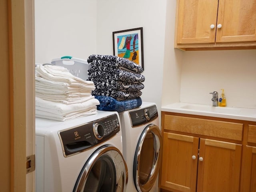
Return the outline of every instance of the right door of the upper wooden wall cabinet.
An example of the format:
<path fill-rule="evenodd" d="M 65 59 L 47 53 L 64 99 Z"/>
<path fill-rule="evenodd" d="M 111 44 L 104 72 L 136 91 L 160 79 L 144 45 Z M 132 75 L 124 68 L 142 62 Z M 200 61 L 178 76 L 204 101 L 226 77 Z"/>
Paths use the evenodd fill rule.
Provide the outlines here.
<path fill-rule="evenodd" d="M 219 0 L 216 42 L 256 41 L 256 1 Z"/>

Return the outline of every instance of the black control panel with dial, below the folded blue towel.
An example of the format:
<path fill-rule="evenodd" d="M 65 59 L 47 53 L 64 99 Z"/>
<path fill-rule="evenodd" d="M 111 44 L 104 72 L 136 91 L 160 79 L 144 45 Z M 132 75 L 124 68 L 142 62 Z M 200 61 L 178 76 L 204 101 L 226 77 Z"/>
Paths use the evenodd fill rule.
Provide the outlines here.
<path fill-rule="evenodd" d="M 156 105 L 129 112 L 132 126 L 140 126 L 146 124 L 158 117 Z"/>

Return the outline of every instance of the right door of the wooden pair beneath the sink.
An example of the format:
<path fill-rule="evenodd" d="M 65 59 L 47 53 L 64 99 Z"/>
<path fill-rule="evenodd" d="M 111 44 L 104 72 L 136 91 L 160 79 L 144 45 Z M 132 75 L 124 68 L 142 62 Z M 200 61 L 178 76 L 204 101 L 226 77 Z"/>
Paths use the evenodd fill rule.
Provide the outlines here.
<path fill-rule="evenodd" d="M 239 192 L 242 145 L 200 139 L 197 192 Z"/>

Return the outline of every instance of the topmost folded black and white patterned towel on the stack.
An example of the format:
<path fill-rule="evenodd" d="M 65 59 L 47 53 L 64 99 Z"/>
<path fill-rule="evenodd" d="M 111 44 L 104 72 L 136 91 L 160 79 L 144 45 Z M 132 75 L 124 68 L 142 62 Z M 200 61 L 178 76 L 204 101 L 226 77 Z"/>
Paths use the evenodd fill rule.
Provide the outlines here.
<path fill-rule="evenodd" d="M 143 68 L 138 64 L 122 57 L 112 55 L 90 55 L 87 59 L 88 64 L 91 66 L 110 66 L 116 68 L 126 68 L 134 73 L 142 73 Z"/>

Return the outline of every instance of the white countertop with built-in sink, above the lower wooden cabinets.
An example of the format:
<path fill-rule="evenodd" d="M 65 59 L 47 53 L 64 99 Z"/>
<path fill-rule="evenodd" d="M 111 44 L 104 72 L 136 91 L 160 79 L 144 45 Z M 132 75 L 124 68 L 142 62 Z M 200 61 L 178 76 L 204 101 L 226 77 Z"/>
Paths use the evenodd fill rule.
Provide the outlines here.
<path fill-rule="evenodd" d="M 162 106 L 161 110 L 165 112 L 220 117 L 256 122 L 256 109 L 253 108 L 214 107 L 203 104 L 174 103 Z"/>

